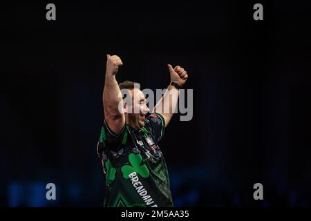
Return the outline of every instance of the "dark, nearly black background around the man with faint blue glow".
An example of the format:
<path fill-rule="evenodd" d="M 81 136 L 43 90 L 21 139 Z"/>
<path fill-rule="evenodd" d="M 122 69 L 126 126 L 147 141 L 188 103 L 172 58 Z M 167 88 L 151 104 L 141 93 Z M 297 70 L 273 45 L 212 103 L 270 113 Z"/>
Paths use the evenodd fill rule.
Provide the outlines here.
<path fill-rule="evenodd" d="M 160 144 L 176 206 L 311 205 L 310 5 L 47 3 L 1 5 L 1 206 L 102 206 L 106 53 L 143 88 L 187 70 L 194 117 Z"/>

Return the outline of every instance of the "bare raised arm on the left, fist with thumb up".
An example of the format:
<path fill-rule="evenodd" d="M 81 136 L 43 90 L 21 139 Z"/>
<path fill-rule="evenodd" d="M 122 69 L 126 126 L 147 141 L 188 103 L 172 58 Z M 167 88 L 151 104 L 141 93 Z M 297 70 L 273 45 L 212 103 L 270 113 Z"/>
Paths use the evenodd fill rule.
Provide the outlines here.
<path fill-rule="evenodd" d="M 113 133 L 120 133 L 125 124 L 123 109 L 119 105 L 122 104 L 122 94 L 115 79 L 115 74 L 122 61 L 117 55 L 107 55 L 105 85 L 102 99 L 104 102 L 105 121 Z"/>

